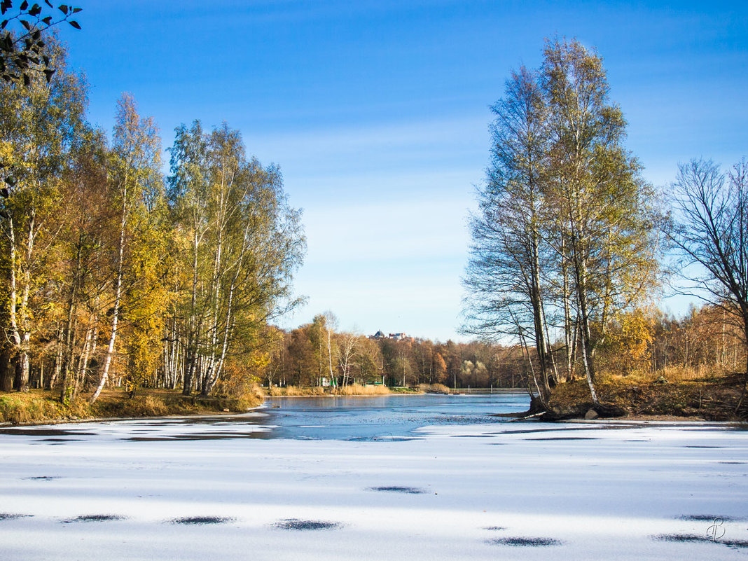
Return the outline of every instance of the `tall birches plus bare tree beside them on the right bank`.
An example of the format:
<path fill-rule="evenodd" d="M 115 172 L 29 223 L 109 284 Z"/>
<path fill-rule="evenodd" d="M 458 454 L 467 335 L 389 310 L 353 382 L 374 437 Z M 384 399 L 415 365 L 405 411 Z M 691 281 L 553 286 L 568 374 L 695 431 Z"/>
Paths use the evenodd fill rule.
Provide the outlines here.
<path fill-rule="evenodd" d="M 577 375 L 600 405 L 598 370 L 611 366 L 606 355 L 617 346 L 614 361 L 646 355 L 666 364 L 669 343 L 657 341 L 654 352 L 649 340 L 666 338 L 662 325 L 652 330 L 664 320 L 647 308 L 668 261 L 681 272 L 699 266 L 689 289 L 721 310 L 723 337 L 740 347 L 733 356 L 748 360 L 746 164 L 723 174 L 712 162 L 690 162 L 664 197 L 626 150 L 625 118 L 609 93 L 601 57 L 555 39 L 539 69 L 511 73 L 492 107 L 463 331 L 524 349 L 537 408 Z M 748 367 L 743 394 L 746 382 Z"/>

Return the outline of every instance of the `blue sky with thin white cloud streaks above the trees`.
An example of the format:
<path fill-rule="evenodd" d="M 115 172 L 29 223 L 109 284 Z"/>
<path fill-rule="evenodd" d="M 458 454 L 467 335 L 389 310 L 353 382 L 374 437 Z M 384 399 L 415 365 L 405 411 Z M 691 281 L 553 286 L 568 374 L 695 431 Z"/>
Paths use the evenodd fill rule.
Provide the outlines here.
<path fill-rule="evenodd" d="M 543 40 L 604 58 L 628 148 L 663 186 L 678 162 L 748 156 L 744 2 L 79 0 L 70 61 L 91 120 L 123 91 L 174 127 L 227 121 L 304 209 L 308 304 L 341 328 L 462 339 L 468 211 L 488 162 L 488 106 Z M 682 301 L 665 301 L 678 311 Z"/>

